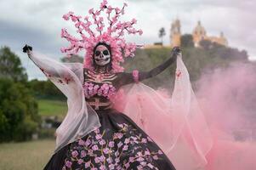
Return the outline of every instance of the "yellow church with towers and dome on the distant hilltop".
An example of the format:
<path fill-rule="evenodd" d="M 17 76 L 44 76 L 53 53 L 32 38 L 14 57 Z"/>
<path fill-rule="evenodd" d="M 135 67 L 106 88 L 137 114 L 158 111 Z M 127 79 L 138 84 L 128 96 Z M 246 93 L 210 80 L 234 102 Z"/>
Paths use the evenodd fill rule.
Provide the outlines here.
<path fill-rule="evenodd" d="M 180 28 L 181 28 L 181 25 L 180 25 L 179 19 L 174 20 L 170 29 L 170 44 L 164 47 L 168 48 L 168 47 L 180 46 L 180 38 L 182 36 Z M 201 25 L 200 21 L 198 21 L 197 26 L 192 31 L 192 37 L 193 37 L 193 42 L 195 44 L 195 47 L 200 47 L 199 42 L 201 42 L 202 40 L 208 40 L 210 42 L 216 42 L 221 45 L 228 46 L 228 41 L 225 38 L 223 32 L 220 32 L 219 37 L 208 36 L 207 31 Z M 162 48 L 162 43 L 155 43 L 154 45 L 146 45 L 145 48 Z"/>

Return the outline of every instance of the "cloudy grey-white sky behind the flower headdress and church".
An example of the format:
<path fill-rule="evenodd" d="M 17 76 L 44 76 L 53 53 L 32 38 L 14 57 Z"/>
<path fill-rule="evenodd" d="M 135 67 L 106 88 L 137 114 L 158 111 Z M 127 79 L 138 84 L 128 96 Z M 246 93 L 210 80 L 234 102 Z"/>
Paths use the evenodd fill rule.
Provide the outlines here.
<path fill-rule="evenodd" d="M 9 46 L 20 56 L 29 78 L 43 79 L 43 74 L 23 54 L 27 43 L 34 50 L 53 59 L 64 54 L 66 46 L 60 37 L 61 28 L 74 32 L 71 22 L 62 19 L 69 11 L 85 16 L 89 8 L 98 8 L 101 0 L 0 0 L 0 47 Z M 164 27 L 164 43 L 170 43 L 170 25 L 179 18 L 182 33 L 191 33 L 201 20 L 208 36 L 219 36 L 223 31 L 230 47 L 245 49 L 249 59 L 256 59 L 255 0 L 109 0 L 111 6 L 128 3 L 125 19 L 136 18 L 137 28 L 144 31 L 139 36 L 127 37 L 139 44 L 159 42 L 158 31 Z"/>

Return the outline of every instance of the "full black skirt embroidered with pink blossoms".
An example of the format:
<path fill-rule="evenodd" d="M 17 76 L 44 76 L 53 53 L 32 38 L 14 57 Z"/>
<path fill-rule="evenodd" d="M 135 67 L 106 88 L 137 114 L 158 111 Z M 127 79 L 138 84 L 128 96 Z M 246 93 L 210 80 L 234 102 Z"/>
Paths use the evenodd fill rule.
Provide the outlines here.
<path fill-rule="evenodd" d="M 162 150 L 128 116 L 97 111 L 101 127 L 52 156 L 50 170 L 174 170 Z"/>

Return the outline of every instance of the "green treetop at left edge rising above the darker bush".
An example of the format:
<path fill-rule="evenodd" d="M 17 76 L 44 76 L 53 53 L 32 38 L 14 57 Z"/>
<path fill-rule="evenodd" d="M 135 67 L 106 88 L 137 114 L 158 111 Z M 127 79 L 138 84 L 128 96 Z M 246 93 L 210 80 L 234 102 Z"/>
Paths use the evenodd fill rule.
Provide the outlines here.
<path fill-rule="evenodd" d="M 26 82 L 26 70 L 22 67 L 20 58 L 10 48 L 0 48 L 0 78 L 9 78 L 14 82 Z"/>

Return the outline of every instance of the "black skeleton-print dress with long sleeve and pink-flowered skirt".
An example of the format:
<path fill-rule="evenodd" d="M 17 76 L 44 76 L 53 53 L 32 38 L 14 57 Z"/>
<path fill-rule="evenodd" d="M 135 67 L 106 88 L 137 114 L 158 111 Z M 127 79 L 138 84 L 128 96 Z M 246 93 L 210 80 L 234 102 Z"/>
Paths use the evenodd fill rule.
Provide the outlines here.
<path fill-rule="evenodd" d="M 173 60 L 168 59 L 149 72 L 139 73 L 139 81 L 160 73 Z M 98 74 L 84 70 L 84 83 L 99 86 L 107 83 L 120 88 L 131 82 L 134 82 L 132 73 Z M 44 167 L 45 170 L 175 169 L 142 129 L 128 116 L 111 109 L 111 102 L 107 98 L 94 95 L 88 96 L 86 100 L 99 116 L 101 127 L 55 153 Z"/>

